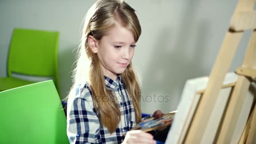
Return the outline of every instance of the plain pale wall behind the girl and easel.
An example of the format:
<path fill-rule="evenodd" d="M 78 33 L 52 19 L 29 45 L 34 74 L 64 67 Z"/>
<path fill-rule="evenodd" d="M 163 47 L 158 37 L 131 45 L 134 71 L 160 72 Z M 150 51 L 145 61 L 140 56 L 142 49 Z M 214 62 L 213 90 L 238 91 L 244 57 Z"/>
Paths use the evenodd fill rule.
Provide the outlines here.
<path fill-rule="evenodd" d="M 0 77 L 6 76 L 14 27 L 58 30 L 61 98 L 64 98 L 71 86 L 75 61 L 72 51 L 80 41 L 80 24 L 94 2 L 0 0 Z M 167 103 L 142 101 L 142 112 L 175 110 L 185 81 L 210 74 L 237 0 L 128 0 L 128 3 L 137 11 L 142 27 L 133 59 L 141 71 L 142 95 L 170 96 Z M 251 32 L 245 33 L 230 71 L 242 64 L 250 35 Z"/>

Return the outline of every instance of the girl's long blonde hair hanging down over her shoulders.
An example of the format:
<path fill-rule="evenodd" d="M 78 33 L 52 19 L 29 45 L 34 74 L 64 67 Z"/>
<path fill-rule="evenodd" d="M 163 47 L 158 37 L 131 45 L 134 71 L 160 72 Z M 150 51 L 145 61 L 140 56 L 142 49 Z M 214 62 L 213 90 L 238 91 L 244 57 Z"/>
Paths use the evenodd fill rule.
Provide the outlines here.
<path fill-rule="evenodd" d="M 74 85 L 77 83 L 85 81 L 89 83 L 93 104 L 100 114 L 101 124 L 108 128 L 110 133 L 113 133 L 117 128 L 121 113 L 117 101 L 112 101 L 115 96 L 106 89 L 101 61 L 97 53 L 93 53 L 89 47 L 88 36 L 92 35 L 96 40 L 101 40 L 117 24 L 130 30 L 133 33 L 134 40 L 138 41 L 141 35 L 139 20 L 135 10 L 123 0 L 99 0 L 88 10 L 85 16 L 81 43 L 78 48 L 77 65 L 73 72 L 73 86 L 71 88 L 72 92 Z M 136 80 L 132 63 L 121 74 L 121 79 L 133 102 L 136 122 L 139 123 L 141 121 L 141 88 Z M 105 103 L 100 101 L 103 98 L 107 99 Z"/>

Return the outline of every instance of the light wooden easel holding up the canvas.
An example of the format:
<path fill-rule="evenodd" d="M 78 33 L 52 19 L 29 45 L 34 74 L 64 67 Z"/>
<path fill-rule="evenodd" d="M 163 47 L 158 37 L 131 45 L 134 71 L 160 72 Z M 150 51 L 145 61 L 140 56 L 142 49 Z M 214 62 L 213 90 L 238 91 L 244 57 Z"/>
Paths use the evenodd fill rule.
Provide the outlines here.
<path fill-rule="evenodd" d="M 216 103 L 217 96 L 221 90 L 225 74 L 229 66 L 244 30 L 253 30 L 245 58 L 241 67 L 236 72 L 239 75 L 223 119 L 219 123 L 219 131 L 215 135 L 214 143 L 229 144 L 235 130 L 235 124 L 239 118 L 237 113 L 241 112 L 246 92 L 256 77 L 256 11 L 253 10 L 256 0 L 239 0 L 230 21 L 229 29 L 225 35 L 221 49 L 209 76 L 208 86 L 200 99 L 189 130 L 183 141 L 186 144 L 200 144 L 205 128 Z M 255 99 L 254 99 L 255 101 Z M 248 119 L 240 144 L 250 144 L 256 131 L 255 103 Z"/>

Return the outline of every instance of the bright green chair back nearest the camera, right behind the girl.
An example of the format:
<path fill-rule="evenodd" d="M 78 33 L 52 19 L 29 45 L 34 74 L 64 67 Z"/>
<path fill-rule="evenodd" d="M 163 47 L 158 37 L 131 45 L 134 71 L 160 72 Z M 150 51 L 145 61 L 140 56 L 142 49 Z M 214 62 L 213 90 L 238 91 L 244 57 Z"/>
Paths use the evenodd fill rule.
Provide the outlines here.
<path fill-rule="evenodd" d="M 52 80 L 0 92 L 1 144 L 69 144 Z"/>

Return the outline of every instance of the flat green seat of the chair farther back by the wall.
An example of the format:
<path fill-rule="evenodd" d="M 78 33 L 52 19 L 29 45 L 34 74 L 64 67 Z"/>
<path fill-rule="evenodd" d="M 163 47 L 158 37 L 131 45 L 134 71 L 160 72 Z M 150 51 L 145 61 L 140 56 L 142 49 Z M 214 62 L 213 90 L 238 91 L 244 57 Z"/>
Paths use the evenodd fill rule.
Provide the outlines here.
<path fill-rule="evenodd" d="M 12 88 L 17 88 L 17 87 L 29 85 L 32 83 L 36 83 L 36 82 L 21 80 L 15 77 L 0 77 L 0 91 L 9 90 Z"/>

